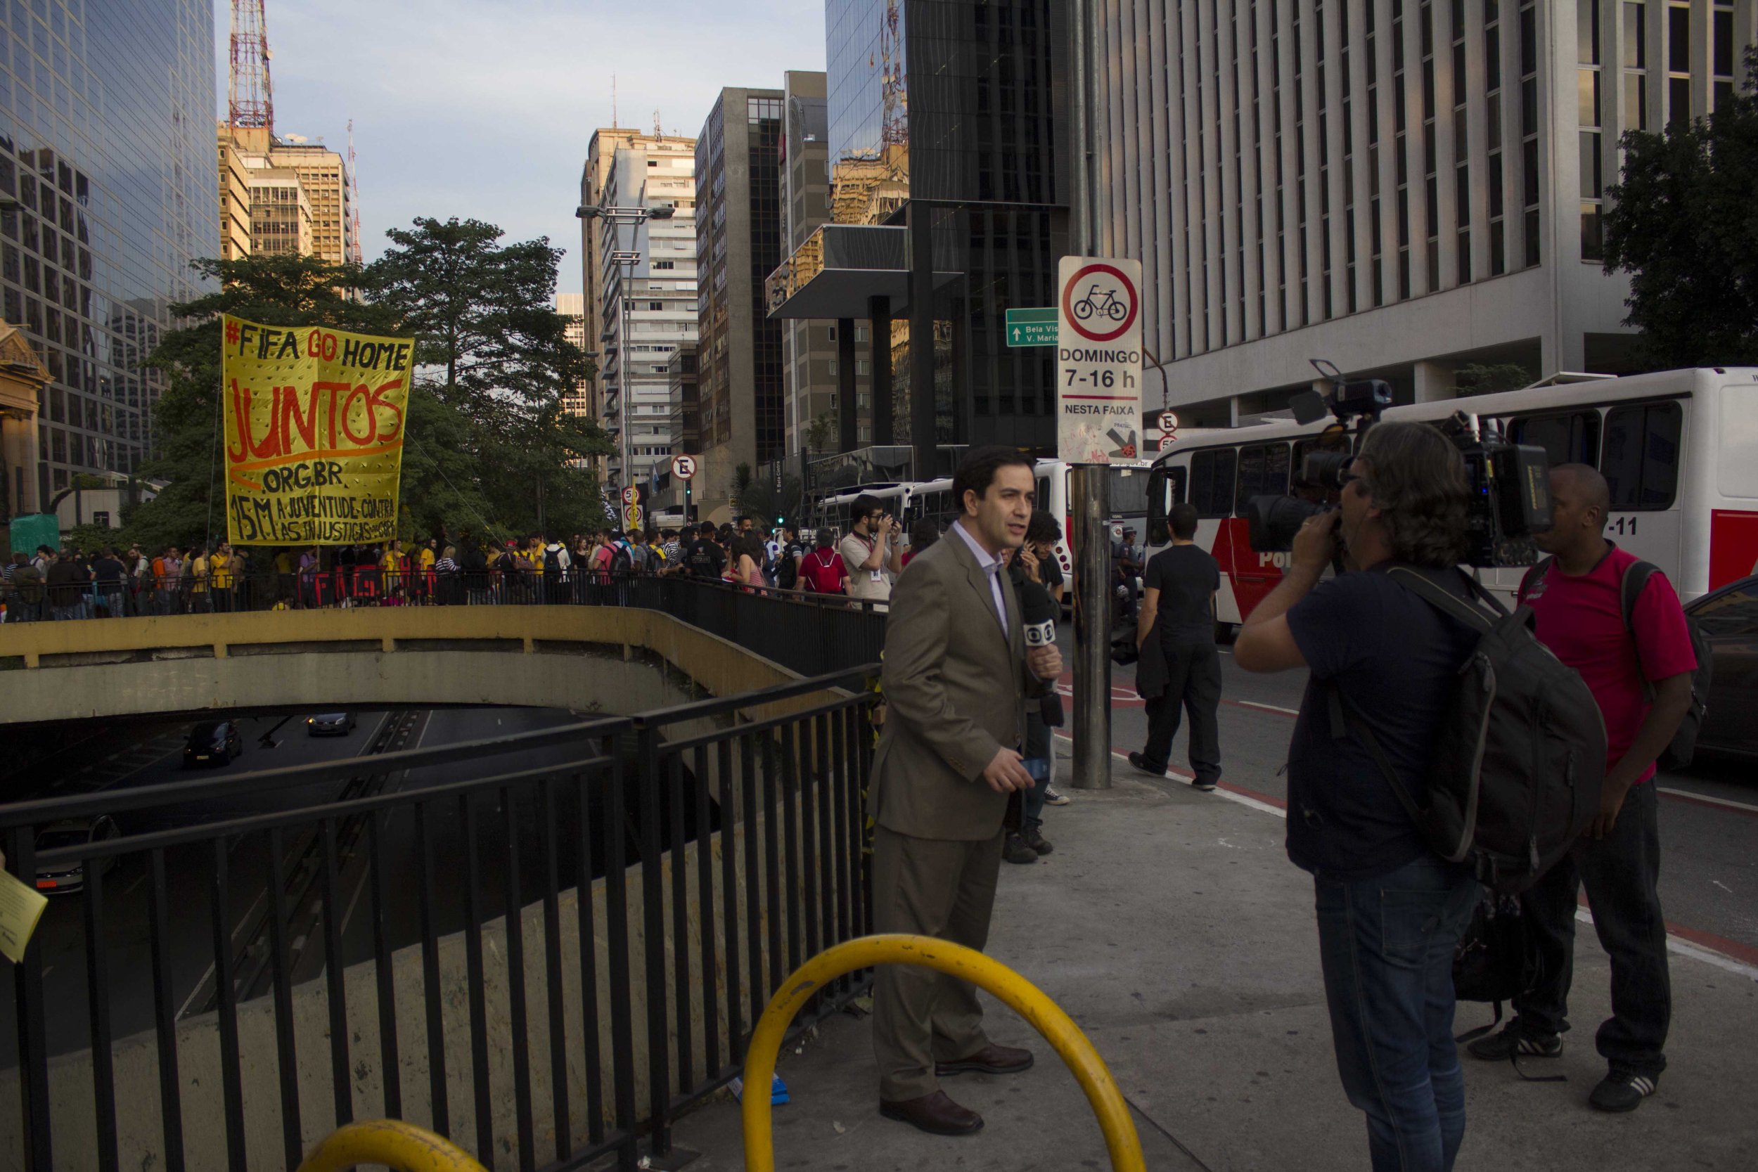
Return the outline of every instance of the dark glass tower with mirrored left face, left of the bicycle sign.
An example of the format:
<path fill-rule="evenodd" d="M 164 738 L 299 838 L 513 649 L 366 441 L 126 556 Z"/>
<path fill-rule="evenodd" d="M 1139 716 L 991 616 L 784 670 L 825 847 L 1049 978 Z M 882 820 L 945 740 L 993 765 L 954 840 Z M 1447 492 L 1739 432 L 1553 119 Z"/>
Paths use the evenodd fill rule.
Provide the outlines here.
<path fill-rule="evenodd" d="M 828 0 L 832 218 L 904 225 L 932 202 L 935 443 L 1055 448 L 1055 357 L 1009 350 L 1009 307 L 1055 304 L 1067 251 L 1062 0 Z M 923 204 L 928 207 L 928 204 Z M 909 337 L 891 329 L 891 434 L 909 438 Z"/>

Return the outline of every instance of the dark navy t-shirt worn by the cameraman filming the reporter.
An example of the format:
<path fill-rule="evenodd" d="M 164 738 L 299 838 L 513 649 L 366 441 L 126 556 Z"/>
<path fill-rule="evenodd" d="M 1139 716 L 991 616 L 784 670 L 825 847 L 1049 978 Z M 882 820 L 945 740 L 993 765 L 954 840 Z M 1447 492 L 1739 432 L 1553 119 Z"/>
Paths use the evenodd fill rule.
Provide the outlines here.
<path fill-rule="evenodd" d="M 1464 597 L 1457 571 L 1435 580 Z M 1311 668 L 1289 743 L 1289 857 L 1331 880 L 1377 879 L 1426 847 L 1366 747 L 1354 733 L 1331 736 L 1322 684 L 1341 685 L 1420 807 L 1429 749 L 1477 633 L 1375 571 L 1320 582 L 1289 610 L 1289 631 Z"/>

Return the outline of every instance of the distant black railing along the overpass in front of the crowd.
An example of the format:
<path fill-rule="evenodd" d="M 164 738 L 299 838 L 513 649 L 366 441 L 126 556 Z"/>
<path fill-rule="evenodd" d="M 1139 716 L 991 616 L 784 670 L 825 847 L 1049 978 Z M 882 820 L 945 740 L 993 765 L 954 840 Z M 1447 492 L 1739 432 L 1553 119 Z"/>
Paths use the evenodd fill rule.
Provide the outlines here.
<path fill-rule="evenodd" d="M 42 599 L 11 597 L 9 622 L 364 606 L 642 606 L 712 631 L 800 675 L 874 662 L 884 648 L 884 608 L 875 603 L 684 575 L 360 568 L 246 575 L 199 590 L 193 582 L 179 576 L 146 590 L 91 582 L 44 587 Z"/>

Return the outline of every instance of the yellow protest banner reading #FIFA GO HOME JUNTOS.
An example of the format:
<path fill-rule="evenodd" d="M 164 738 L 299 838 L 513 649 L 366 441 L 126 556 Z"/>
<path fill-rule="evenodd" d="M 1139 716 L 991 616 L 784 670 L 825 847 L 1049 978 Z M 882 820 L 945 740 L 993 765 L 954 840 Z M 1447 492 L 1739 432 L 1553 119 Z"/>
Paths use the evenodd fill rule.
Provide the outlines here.
<path fill-rule="evenodd" d="M 396 538 L 415 339 L 232 315 L 222 329 L 232 545 Z"/>

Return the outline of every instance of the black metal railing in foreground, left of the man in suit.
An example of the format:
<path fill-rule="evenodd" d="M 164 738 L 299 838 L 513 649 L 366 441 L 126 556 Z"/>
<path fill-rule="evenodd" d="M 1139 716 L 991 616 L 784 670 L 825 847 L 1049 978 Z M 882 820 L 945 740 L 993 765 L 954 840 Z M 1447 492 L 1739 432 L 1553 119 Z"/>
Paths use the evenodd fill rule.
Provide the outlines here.
<path fill-rule="evenodd" d="M 487 1167 L 665 1154 L 786 973 L 868 931 L 874 671 L 0 807 L 9 870 L 79 889 L 0 972 L 0 1135 L 37 1170 L 295 1167 L 378 1114 Z"/>

